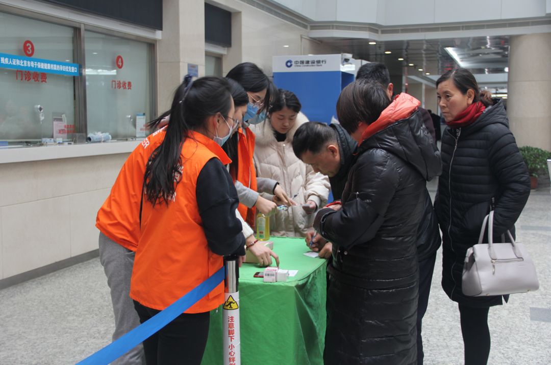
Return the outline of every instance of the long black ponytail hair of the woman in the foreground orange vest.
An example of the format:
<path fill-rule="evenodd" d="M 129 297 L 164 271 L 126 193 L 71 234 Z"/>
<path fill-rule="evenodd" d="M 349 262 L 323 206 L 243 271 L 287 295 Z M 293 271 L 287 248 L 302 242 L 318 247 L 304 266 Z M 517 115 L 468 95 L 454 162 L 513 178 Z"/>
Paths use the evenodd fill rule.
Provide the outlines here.
<path fill-rule="evenodd" d="M 145 198 L 155 206 L 172 200 L 180 180 L 182 144 L 187 133 L 205 125 L 209 116 L 231 109 L 228 81 L 221 77 L 202 77 L 194 82 L 186 76 L 176 90 L 170 108 L 170 122 L 163 143 L 149 157 L 144 176 Z"/>

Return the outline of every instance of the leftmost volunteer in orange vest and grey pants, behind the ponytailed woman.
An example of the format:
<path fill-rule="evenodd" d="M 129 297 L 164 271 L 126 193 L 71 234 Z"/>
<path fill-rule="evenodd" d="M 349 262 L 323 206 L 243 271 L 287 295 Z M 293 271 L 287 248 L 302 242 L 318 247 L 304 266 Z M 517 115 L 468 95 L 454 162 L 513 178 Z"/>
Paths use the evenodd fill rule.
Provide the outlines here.
<path fill-rule="evenodd" d="M 239 120 L 239 124 L 241 124 L 247 111 L 249 98 L 239 83 L 235 80 L 227 80 L 235 105 L 233 118 L 235 121 Z M 158 119 L 150 122 L 149 127 L 156 129 L 159 125 L 166 126 L 169 115 L 170 110 L 164 112 Z M 161 136 L 165 135 L 164 131 L 155 132 L 132 152 L 118 174 L 115 184 L 111 188 L 111 194 L 96 217 L 96 227 L 100 230 L 100 262 L 107 276 L 115 318 L 113 341 L 139 325 L 138 314 L 134 310 L 134 303 L 128 294 L 134 255 L 141 235 L 139 206 L 143 174 L 151 151 L 154 151 L 163 142 L 162 138 L 155 137 L 158 133 L 163 133 Z M 228 142 L 224 144 L 224 147 L 227 144 Z M 237 212 L 237 218 L 241 218 L 239 212 Z M 262 265 L 271 265 L 271 256 L 273 256 L 279 266 L 279 257 L 266 246 L 254 245 L 256 239 L 253 230 L 242 219 L 241 224 L 246 245 L 258 261 Z M 118 358 L 114 364 L 142 365 L 144 362 L 143 346 L 140 344 Z"/>

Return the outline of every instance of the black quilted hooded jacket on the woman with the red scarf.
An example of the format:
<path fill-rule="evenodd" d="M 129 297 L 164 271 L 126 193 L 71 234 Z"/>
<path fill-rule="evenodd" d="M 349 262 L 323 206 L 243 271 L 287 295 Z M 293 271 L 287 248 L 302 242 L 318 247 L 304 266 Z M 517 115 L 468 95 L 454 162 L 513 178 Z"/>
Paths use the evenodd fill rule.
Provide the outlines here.
<path fill-rule="evenodd" d="M 499 238 L 507 229 L 514 233 L 530 195 L 528 170 L 503 102 L 487 108 L 467 127 L 446 127 L 441 149 L 435 210 L 444 241 L 442 288 L 452 300 L 469 307 L 499 305 L 501 296 L 464 296 L 461 277 L 467 249 L 478 242 L 490 206 L 495 209 L 494 237 Z"/>

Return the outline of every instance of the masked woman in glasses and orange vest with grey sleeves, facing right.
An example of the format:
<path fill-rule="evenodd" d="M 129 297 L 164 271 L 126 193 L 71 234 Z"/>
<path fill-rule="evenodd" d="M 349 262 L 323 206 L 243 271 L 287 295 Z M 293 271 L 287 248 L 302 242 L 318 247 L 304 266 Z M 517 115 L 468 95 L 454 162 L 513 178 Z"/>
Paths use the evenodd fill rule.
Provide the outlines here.
<path fill-rule="evenodd" d="M 278 205 L 293 204 L 277 181 L 257 179 L 253 165 L 255 135 L 249 126 L 266 119 L 268 103 L 265 101 L 273 97 L 273 83 L 251 62 L 240 63 L 232 68 L 226 77 L 236 80 L 245 89 L 249 101 L 242 127 L 228 142 L 228 149 L 233 160 L 230 174 L 234 176 L 239 195 L 239 212 L 245 221 L 254 227 L 256 210 L 268 216 L 274 213 Z M 260 196 L 258 192 L 267 193 L 269 198 Z"/>

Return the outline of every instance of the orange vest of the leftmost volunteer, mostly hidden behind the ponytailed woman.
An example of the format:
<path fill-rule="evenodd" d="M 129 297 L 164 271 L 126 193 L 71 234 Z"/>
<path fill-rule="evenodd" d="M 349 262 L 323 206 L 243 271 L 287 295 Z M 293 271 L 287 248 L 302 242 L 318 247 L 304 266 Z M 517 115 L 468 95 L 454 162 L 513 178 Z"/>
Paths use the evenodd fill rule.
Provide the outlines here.
<path fill-rule="evenodd" d="M 96 216 L 96 227 L 131 251 L 136 251 L 140 237 L 139 204 L 145 165 L 155 148 L 163 142 L 165 130 L 162 128 L 152 133 L 132 151 Z"/>

